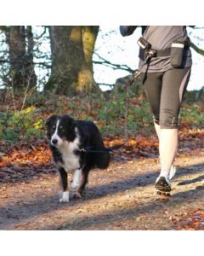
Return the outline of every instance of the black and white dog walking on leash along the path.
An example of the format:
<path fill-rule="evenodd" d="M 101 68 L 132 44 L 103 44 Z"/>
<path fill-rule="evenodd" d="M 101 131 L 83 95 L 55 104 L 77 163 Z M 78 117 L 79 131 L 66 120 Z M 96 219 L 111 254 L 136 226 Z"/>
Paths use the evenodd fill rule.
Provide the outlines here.
<path fill-rule="evenodd" d="M 105 150 L 98 127 L 91 121 L 53 115 L 46 125 L 49 146 L 59 168 L 63 188 L 59 202 L 68 202 L 69 191 L 76 191 L 76 197 L 81 197 L 88 183 L 88 172 L 94 167 L 107 168 L 111 156 Z M 71 186 L 68 185 L 68 172 L 73 172 Z"/>

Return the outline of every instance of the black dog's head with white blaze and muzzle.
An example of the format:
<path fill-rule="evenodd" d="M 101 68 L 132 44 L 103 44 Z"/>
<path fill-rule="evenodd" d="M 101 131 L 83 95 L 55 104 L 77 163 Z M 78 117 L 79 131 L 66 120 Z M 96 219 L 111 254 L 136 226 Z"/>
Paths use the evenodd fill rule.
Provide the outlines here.
<path fill-rule="evenodd" d="M 48 139 L 56 148 L 72 143 L 77 137 L 77 122 L 69 115 L 53 115 L 47 119 L 46 125 Z"/>

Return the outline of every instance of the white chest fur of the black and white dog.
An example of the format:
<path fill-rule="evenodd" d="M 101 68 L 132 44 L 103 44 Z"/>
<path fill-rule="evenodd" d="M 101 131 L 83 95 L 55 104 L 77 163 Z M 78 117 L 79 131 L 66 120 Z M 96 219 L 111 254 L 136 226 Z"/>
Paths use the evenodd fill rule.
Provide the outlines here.
<path fill-rule="evenodd" d="M 72 143 L 65 142 L 59 148 L 62 154 L 63 164 L 66 172 L 73 172 L 79 169 L 79 156 L 74 154 L 74 150 L 78 147 L 79 139 L 76 138 Z"/>

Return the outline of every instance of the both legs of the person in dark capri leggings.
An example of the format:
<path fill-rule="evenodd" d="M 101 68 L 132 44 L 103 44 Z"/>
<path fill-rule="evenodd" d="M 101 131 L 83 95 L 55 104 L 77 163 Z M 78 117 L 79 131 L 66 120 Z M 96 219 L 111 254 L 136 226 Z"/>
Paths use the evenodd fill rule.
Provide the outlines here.
<path fill-rule="evenodd" d="M 161 174 L 156 183 L 165 177 L 167 189 L 171 189 L 169 179 L 175 172 L 172 165 L 178 146 L 178 113 L 189 79 L 190 68 L 174 68 L 166 73 L 147 73 L 143 80 L 160 140 Z"/>

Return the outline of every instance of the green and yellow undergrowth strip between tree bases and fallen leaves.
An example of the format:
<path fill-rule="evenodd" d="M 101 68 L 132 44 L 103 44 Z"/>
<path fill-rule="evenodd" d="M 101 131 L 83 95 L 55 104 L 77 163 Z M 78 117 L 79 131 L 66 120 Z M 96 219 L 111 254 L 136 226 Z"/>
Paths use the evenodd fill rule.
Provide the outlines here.
<path fill-rule="evenodd" d="M 188 95 L 187 95 L 188 96 Z M 75 119 L 89 119 L 99 126 L 105 137 L 122 137 L 125 122 L 125 94 L 114 96 L 43 96 L 35 93 L 27 99 L 25 108 L 22 99 L 6 100 L 1 97 L 0 139 L 18 142 L 45 137 L 45 120 L 52 114 L 70 114 Z M 15 102 L 14 102 L 15 101 Z M 203 128 L 204 107 L 201 101 L 184 102 L 180 117 L 182 124 L 189 127 Z M 136 97 L 131 93 L 128 114 L 130 135 L 142 133 L 150 135 L 154 130 L 150 106 L 145 96 Z"/>

